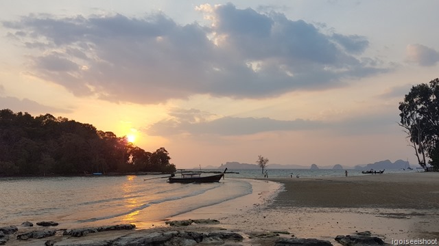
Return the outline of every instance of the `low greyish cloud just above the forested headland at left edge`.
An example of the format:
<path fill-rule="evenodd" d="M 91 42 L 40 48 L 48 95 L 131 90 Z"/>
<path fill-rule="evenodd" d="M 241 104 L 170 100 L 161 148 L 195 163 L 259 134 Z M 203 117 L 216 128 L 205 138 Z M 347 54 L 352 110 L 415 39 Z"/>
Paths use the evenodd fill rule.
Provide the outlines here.
<path fill-rule="evenodd" d="M 55 107 L 49 107 L 46 105 L 41 105 L 34 100 L 29 100 L 27 98 L 19 99 L 11 96 L 0 96 L 0 105 L 2 109 L 11 109 L 14 112 L 27 112 L 33 114 L 45 114 L 47 112 L 60 112 L 60 113 L 71 113 L 69 109 L 58 109 Z"/>

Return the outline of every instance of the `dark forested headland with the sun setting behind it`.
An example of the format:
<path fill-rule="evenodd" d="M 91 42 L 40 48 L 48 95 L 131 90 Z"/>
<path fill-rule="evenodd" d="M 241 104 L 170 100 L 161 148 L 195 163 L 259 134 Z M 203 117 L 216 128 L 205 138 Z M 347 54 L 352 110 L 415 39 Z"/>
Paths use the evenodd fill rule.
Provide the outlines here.
<path fill-rule="evenodd" d="M 0 176 L 170 173 L 170 159 L 165 148 L 147 152 L 91 124 L 0 110 Z"/>

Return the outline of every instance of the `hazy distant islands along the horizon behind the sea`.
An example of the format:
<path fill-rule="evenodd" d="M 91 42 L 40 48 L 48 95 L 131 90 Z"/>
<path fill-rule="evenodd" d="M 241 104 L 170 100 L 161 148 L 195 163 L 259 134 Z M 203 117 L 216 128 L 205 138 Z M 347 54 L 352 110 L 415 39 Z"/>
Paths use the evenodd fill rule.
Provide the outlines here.
<path fill-rule="evenodd" d="M 397 160 L 394 163 L 390 160 L 377 161 L 375 163 L 368 163 L 362 165 L 355 165 L 353 167 L 343 167 L 340 164 L 335 164 L 333 166 L 312 164 L 311 166 L 304 165 L 281 165 L 281 164 L 268 164 L 266 168 L 268 169 L 407 169 L 410 167 L 408 161 Z M 260 168 L 257 164 L 239 163 L 237 161 L 226 162 L 221 164 L 219 167 L 208 166 L 204 167 L 206 169 L 258 169 Z"/>

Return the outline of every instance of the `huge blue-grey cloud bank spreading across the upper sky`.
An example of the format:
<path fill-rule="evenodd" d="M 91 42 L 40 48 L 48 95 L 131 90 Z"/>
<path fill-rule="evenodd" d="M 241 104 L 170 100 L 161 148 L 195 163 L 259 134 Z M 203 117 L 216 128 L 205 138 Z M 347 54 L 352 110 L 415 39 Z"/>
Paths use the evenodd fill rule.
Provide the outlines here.
<path fill-rule="evenodd" d="M 3 22 L 32 50 L 29 72 L 75 96 L 150 104 L 195 94 L 268 98 L 327 90 L 386 72 L 361 57 L 362 36 L 325 34 L 304 20 L 235 5 L 200 5 L 211 25 L 178 25 L 163 13 L 131 18 L 30 14 Z"/>

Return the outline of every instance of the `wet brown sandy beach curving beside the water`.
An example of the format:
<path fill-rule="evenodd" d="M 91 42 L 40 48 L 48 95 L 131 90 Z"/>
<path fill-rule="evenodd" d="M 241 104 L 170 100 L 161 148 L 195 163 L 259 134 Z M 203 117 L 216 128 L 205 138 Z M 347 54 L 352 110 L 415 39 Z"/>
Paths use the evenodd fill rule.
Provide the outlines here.
<path fill-rule="evenodd" d="M 250 182 L 253 187 L 250 195 L 169 220 L 217 219 L 218 225 L 192 225 L 185 230 L 238 232 L 244 241 L 237 245 L 274 245 L 276 238 L 292 236 L 340 245 L 335 236 L 364 231 L 379 236 L 385 243 L 439 238 L 439 173 L 270 178 Z M 136 231 L 167 228 L 165 221 L 157 221 L 153 229 Z M 284 233 L 254 237 L 266 232 Z M 99 235 L 84 238 L 93 241 Z M 6 245 L 32 245 L 32 241 L 47 239 L 26 243 L 10 240 Z"/>

